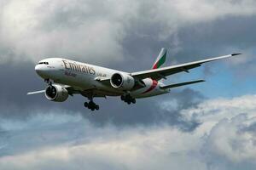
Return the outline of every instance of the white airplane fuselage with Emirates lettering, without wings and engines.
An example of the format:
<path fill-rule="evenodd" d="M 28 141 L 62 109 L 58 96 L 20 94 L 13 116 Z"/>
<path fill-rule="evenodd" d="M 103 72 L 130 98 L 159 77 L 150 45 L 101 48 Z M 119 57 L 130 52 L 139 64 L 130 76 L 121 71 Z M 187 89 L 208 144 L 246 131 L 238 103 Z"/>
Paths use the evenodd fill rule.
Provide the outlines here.
<path fill-rule="evenodd" d="M 40 77 L 50 79 L 55 83 L 77 88 L 84 93 L 87 90 L 93 90 L 96 97 L 120 96 L 127 93 L 97 81 L 97 79 L 111 77 L 114 73 L 129 74 L 124 71 L 61 58 L 43 59 L 36 65 L 35 70 Z M 170 91 L 169 89 L 161 89 L 160 86 L 163 84 L 151 78 L 145 78 L 142 81 L 143 88 L 133 89 L 129 92 L 133 98 L 147 98 L 166 94 Z"/>

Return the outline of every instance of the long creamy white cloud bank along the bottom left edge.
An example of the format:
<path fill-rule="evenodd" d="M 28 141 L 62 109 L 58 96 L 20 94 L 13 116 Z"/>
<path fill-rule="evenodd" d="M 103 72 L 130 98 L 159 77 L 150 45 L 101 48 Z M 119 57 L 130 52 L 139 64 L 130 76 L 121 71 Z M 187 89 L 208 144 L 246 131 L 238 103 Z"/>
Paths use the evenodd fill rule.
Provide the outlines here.
<path fill-rule="evenodd" d="M 84 131 L 88 130 L 86 128 Z M 97 133 L 98 130 L 95 130 Z M 191 134 L 170 127 L 101 129 L 89 143 L 43 147 L 15 156 L 3 156 L 1 169 L 203 169 L 187 151 L 196 146 Z M 187 138 L 190 141 L 186 140 Z M 172 141 L 172 139 L 177 139 Z M 29 162 L 29 163 L 28 163 Z"/>

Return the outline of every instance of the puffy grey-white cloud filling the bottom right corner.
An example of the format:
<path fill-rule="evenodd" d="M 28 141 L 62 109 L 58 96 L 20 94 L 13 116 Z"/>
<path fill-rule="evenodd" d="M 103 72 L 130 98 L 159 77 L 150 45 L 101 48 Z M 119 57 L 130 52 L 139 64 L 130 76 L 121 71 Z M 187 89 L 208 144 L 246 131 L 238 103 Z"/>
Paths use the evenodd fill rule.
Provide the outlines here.
<path fill-rule="evenodd" d="M 224 119 L 212 128 L 212 131 L 203 146 L 201 152 L 207 161 L 209 169 L 253 169 L 256 164 L 255 141 L 256 135 L 247 129 L 250 123 L 255 123 L 254 118 L 248 118 L 246 114 Z"/>

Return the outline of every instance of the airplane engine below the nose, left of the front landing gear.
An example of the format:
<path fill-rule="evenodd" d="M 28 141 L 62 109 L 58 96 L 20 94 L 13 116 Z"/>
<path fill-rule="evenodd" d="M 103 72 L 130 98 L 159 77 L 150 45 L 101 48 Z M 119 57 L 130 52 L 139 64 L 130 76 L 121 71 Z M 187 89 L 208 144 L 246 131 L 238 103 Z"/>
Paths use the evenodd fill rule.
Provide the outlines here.
<path fill-rule="evenodd" d="M 68 92 L 66 88 L 54 84 L 45 89 L 45 97 L 55 102 L 63 102 L 67 100 Z"/>

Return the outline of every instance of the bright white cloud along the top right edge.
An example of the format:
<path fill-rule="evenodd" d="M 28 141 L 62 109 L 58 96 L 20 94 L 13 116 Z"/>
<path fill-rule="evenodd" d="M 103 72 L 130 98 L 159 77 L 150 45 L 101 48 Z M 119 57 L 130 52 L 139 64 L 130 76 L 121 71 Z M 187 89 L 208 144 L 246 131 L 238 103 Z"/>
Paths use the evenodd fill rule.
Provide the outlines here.
<path fill-rule="evenodd" d="M 227 16 L 247 16 L 255 14 L 255 1 L 209 1 L 209 0 L 190 0 L 190 1 L 160 1 L 160 7 L 166 12 L 166 17 L 172 17 L 169 14 L 177 14 L 182 21 L 208 22 L 216 19 L 223 19 Z M 171 10 L 170 10 L 171 9 Z M 164 13 L 160 13 L 164 14 Z M 164 15 L 163 15 L 164 16 Z M 174 18 L 175 19 L 175 18 Z M 166 20 L 168 22 L 168 20 Z M 180 21 L 180 22 L 182 22 Z"/>

